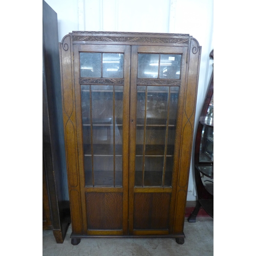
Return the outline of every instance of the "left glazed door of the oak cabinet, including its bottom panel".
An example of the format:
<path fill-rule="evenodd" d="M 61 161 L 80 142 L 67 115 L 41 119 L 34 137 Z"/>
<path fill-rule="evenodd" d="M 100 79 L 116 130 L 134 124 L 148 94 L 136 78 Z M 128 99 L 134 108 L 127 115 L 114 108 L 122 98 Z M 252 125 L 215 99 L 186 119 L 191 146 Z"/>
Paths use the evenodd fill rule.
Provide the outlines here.
<path fill-rule="evenodd" d="M 131 48 L 73 51 L 83 234 L 127 234 Z"/>

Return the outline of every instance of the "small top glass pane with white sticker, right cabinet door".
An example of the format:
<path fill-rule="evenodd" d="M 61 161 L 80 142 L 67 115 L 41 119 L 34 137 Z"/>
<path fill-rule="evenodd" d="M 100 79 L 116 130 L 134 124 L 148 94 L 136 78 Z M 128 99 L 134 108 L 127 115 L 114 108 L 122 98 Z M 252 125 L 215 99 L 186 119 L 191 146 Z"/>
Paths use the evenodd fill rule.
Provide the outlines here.
<path fill-rule="evenodd" d="M 161 54 L 160 78 L 180 79 L 181 54 Z"/>

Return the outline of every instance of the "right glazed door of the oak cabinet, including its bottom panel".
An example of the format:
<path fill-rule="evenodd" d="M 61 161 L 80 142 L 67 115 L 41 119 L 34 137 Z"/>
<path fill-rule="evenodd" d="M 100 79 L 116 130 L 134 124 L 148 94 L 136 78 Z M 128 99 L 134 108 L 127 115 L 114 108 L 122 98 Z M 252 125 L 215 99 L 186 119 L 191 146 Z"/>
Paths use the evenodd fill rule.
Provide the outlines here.
<path fill-rule="evenodd" d="M 173 232 L 187 47 L 132 46 L 129 233 Z"/>

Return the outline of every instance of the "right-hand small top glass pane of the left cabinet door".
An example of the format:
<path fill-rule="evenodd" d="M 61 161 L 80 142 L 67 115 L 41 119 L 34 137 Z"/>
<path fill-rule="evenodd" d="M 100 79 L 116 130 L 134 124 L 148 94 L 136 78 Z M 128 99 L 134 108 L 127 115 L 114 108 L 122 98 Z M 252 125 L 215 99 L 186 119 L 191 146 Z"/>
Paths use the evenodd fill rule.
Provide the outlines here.
<path fill-rule="evenodd" d="M 102 54 L 102 77 L 123 77 L 123 53 Z"/>

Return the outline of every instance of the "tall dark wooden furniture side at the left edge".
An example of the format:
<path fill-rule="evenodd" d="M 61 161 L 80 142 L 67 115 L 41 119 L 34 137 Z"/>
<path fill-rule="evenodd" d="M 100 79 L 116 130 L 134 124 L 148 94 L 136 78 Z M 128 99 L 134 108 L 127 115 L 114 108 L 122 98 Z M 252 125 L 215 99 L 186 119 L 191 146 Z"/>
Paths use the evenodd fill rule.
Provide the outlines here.
<path fill-rule="evenodd" d="M 70 220 L 64 147 L 57 13 L 42 1 L 42 152 L 44 206 L 57 243 L 63 243 Z M 48 197 L 48 199 L 47 199 Z M 58 235 L 56 235 L 58 233 Z"/>

